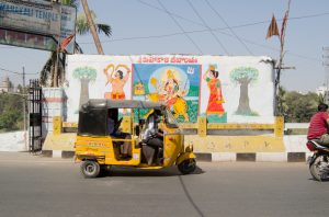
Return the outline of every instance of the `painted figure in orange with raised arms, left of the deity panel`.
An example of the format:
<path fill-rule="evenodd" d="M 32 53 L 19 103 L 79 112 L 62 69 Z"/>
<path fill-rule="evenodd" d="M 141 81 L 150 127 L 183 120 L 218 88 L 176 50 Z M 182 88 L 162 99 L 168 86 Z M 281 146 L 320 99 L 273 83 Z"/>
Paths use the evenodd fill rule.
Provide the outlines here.
<path fill-rule="evenodd" d="M 127 73 L 124 76 L 123 71 L 120 70 L 120 68 L 126 69 Z M 109 73 L 109 70 L 112 70 L 111 73 Z M 131 69 L 126 65 L 117 65 L 114 69 L 114 65 L 110 64 L 105 69 L 104 73 L 107 78 L 106 84 L 111 83 L 112 85 L 112 92 L 105 92 L 104 98 L 105 99 L 115 99 L 115 100 L 124 100 L 126 99 L 125 92 L 124 92 L 124 85 L 126 84 Z M 106 85 L 105 84 L 105 85 Z"/>

